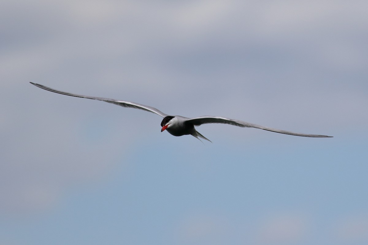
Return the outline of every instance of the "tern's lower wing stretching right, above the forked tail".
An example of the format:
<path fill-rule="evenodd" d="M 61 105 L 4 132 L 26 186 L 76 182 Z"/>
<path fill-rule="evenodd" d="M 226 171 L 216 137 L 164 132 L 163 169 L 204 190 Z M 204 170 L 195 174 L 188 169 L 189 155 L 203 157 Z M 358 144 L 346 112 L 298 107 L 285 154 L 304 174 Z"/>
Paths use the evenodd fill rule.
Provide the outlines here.
<path fill-rule="evenodd" d="M 296 136 L 319 137 L 319 138 L 332 137 L 332 136 L 319 135 L 319 134 L 304 134 L 304 133 L 290 132 L 290 131 L 281 130 L 281 129 L 273 129 L 270 127 L 260 126 L 260 125 L 256 125 L 253 123 L 248 123 L 248 122 L 244 122 L 244 121 L 236 120 L 236 119 L 224 118 L 220 116 L 200 116 L 198 118 L 189 118 L 186 121 L 189 123 L 192 123 L 194 126 L 199 126 L 205 123 L 225 123 L 225 124 L 230 124 L 230 125 L 234 125 L 238 127 L 254 127 L 256 129 L 264 129 L 264 130 L 268 130 L 268 131 L 272 131 L 276 133 L 290 134 L 290 135 L 296 135 Z"/>

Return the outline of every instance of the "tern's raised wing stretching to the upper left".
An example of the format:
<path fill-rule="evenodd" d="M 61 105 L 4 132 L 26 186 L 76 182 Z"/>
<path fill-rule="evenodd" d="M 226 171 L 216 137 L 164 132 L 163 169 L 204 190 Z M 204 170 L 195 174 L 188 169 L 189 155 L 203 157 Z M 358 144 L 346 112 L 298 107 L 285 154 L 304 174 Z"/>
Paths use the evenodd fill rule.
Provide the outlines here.
<path fill-rule="evenodd" d="M 32 83 L 32 84 L 35 85 L 35 86 L 37 86 L 37 87 L 39 87 L 39 88 L 41 88 L 41 89 L 49 90 L 51 92 L 58 93 L 58 94 L 65 94 L 65 95 L 68 95 L 68 96 L 74 96 L 74 97 L 80 97 L 80 98 L 87 98 L 87 99 L 92 99 L 92 100 L 100 100 L 100 101 L 105 101 L 107 103 L 112 103 L 112 104 L 115 104 L 115 105 L 120 105 L 122 107 L 129 107 L 129 108 L 141 109 L 141 110 L 144 110 L 144 111 L 149 111 L 149 112 L 155 113 L 157 115 L 160 115 L 163 118 L 165 116 L 167 116 L 162 111 L 160 111 L 160 110 L 158 110 L 158 109 L 156 109 L 154 107 L 150 107 L 148 105 L 142 105 L 142 104 L 138 104 L 138 103 L 130 102 L 130 101 L 114 100 L 114 99 L 109 99 L 109 98 L 100 98 L 100 97 L 86 96 L 86 95 L 80 95 L 80 94 L 72 94 L 72 93 L 68 93 L 68 92 L 63 92 L 63 91 L 59 91 L 59 90 L 56 90 L 56 89 L 52 89 L 52 88 L 43 86 L 41 84 L 37 84 L 37 83 Z"/>

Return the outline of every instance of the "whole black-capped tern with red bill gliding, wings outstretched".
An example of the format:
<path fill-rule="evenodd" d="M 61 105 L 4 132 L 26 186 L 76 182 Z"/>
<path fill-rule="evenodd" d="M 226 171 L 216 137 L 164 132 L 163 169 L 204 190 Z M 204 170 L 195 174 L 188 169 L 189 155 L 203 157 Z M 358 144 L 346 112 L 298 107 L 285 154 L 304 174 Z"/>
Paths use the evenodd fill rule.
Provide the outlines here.
<path fill-rule="evenodd" d="M 138 104 L 138 103 L 131 102 L 131 101 L 114 100 L 114 99 L 109 99 L 109 98 L 101 98 L 101 97 L 85 96 L 85 95 L 80 95 L 80 94 L 72 94 L 72 93 L 52 89 L 52 88 L 43 86 L 41 84 L 37 84 L 37 83 L 32 83 L 32 84 L 39 87 L 39 88 L 41 88 L 41 89 L 45 89 L 45 90 L 48 90 L 48 91 L 51 91 L 51 92 L 54 92 L 54 93 L 58 93 L 58 94 L 65 94 L 65 95 L 68 95 L 68 96 L 87 98 L 87 99 L 92 99 L 92 100 L 100 100 L 100 101 L 105 101 L 107 103 L 120 105 L 122 107 L 141 109 L 141 110 L 144 110 L 144 111 L 155 113 L 155 114 L 163 117 L 163 120 L 161 122 L 161 127 L 162 127 L 161 132 L 166 130 L 170 134 L 172 134 L 173 136 L 183 136 L 183 135 L 190 134 L 190 135 L 192 135 L 192 136 L 194 136 L 198 139 L 202 138 L 204 140 L 210 141 L 208 138 L 206 138 L 202 134 L 200 134 L 195 129 L 194 126 L 200 126 L 200 125 L 206 124 L 206 123 L 224 123 L 224 124 L 230 124 L 230 125 L 238 126 L 238 127 L 254 127 L 256 129 L 263 129 L 263 130 L 268 130 L 268 131 L 272 131 L 272 132 L 276 132 L 276 133 L 290 134 L 290 135 L 295 135 L 295 136 L 318 137 L 318 138 L 333 137 L 333 136 L 326 136 L 326 135 L 319 135 L 319 134 L 304 134 L 304 133 L 290 132 L 290 131 L 281 130 L 281 129 L 273 129 L 273 128 L 270 128 L 270 127 L 260 126 L 260 125 L 256 125 L 256 124 L 253 124 L 253 123 L 244 122 L 244 121 L 241 121 L 241 120 L 224 118 L 222 116 L 200 116 L 200 117 L 197 117 L 197 118 L 186 118 L 184 116 L 171 116 L 171 115 L 164 114 L 162 111 L 160 111 L 159 109 L 156 109 L 154 107 L 150 107 L 148 105 Z M 212 141 L 210 141 L 210 142 L 212 142 Z"/>

